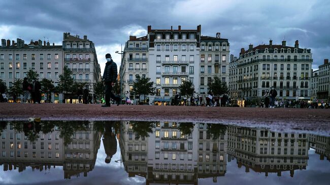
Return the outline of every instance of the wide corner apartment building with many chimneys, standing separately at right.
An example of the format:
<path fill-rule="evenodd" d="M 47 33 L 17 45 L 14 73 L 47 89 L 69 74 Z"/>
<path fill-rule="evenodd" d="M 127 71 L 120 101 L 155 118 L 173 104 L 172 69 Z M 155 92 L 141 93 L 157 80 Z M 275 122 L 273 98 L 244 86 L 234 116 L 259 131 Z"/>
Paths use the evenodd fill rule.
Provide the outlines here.
<path fill-rule="evenodd" d="M 310 49 L 294 47 L 259 45 L 241 49 L 240 57 L 229 63 L 229 94 L 238 104 L 244 99 L 258 99 L 267 89 L 274 87 L 280 99 L 311 99 Z"/>

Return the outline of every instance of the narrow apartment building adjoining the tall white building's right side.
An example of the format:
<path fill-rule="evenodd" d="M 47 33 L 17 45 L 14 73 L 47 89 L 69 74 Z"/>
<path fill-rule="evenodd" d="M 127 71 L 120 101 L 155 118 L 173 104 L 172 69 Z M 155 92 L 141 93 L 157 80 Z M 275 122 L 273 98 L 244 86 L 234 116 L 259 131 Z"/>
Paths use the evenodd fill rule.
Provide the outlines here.
<path fill-rule="evenodd" d="M 201 36 L 200 48 L 200 90 L 199 93 L 208 93 L 208 84 L 214 77 L 218 77 L 228 85 L 229 76 L 229 42 L 228 39 L 220 38 L 220 33 L 216 37 Z"/>

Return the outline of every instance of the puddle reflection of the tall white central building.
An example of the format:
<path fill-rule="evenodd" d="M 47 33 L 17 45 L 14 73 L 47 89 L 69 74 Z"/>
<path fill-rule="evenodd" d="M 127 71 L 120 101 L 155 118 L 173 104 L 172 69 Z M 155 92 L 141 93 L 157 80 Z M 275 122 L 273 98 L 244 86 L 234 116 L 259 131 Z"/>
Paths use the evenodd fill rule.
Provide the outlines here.
<path fill-rule="evenodd" d="M 184 123 L 183 123 L 184 124 Z M 197 124 L 190 135 L 176 122 L 158 122 L 148 142 L 147 184 L 158 182 L 197 184 Z"/>

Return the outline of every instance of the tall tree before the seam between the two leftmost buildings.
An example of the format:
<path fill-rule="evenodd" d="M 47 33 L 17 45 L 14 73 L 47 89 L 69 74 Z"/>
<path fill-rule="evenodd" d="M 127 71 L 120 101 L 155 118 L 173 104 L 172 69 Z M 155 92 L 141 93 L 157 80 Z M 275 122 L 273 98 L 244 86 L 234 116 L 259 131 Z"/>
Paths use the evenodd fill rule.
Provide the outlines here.
<path fill-rule="evenodd" d="M 68 66 L 64 66 L 63 73 L 58 76 L 58 88 L 57 91 L 59 93 L 63 93 L 63 99 L 65 100 L 65 93 L 72 93 L 72 71 L 68 68 Z"/>

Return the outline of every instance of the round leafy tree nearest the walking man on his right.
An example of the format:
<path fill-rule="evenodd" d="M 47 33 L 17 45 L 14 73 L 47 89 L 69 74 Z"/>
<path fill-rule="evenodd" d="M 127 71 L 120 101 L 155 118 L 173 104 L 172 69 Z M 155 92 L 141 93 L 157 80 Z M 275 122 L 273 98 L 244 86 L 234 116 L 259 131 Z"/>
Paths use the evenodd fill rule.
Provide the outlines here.
<path fill-rule="evenodd" d="M 136 82 L 133 83 L 133 92 L 139 95 L 139 99 L 141 100 L 141 95 L 154 95 L 155 87 L 153 87 L 153 82 L 150 82 L 150 78 L 145 77 L 137 77 Z"/>

